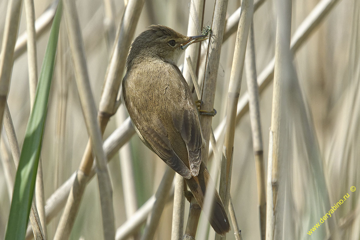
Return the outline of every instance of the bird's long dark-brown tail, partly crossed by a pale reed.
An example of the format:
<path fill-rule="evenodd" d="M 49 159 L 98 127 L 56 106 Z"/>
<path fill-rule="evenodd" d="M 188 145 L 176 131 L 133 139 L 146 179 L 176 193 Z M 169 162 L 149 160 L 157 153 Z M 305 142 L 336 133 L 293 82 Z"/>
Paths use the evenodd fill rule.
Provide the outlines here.
<path fill-rule="evenodd" d="M 230 231 L 230 224 L 228 216 L 226 216 L 226 211 L 224 204 L 220 199 L 219 194 L 215 189 L 215 184 L 213 183 L 209 171 L 207 170 L 205 164 L 201 163 L 200 171 L 198 176 L 193 176 L 190 179 L 185 179 L 186 184 L 188 184 L 190 191 L 193 193 L 194 198 L 197 200 L 203 212 L 207 215 L 210 225 L 220 235 L 225 235 Z M 206 187 L 210 189 L 213 188 L 213 204 L 209 209 L 204 209 L 204 200 L 206 194 Z"/>

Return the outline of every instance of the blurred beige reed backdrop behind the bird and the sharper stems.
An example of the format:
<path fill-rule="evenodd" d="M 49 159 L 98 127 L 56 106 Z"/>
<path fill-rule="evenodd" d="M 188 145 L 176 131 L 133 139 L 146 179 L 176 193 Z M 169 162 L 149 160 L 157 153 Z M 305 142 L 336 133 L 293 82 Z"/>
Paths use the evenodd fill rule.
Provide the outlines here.
<path fill-rule="evenodd" d="M 278 11 L 275 0 L 261 0 L 260 2 L 261 5 L 253 15 L 258 81 L 261 78 L 259 74 L 275 55 Z M 283 89 L 280 91 L 282 112 L 279 127 L 283 130 L 279 135 L 279 159 L 281 159 L 279 168 L 282 183 L 279 189 L 278 208 L 282 210 L 279 218 L 276 219 L 276 224 L 280 225 L 278 228 L 281 229 L 281 234 L 276 235 L 278 238 L 275 237 L 275 239 L 360 238 L 360 201 L 358 201 L 360 191 L 358 175 L 360 173 L 360 164 L 358 164 L 360 158 L 360 98 L 358 94 L 360 2 L 357 0 L 293 0 L 291 36 L 296 33 L 304 19 L 320 2 L 330 3 L 329 13 L 322 21 L 315 24 L 309 37 L 302 39 L 302 45 L 296 46 L 291 80 L 283 82 Z M 110 7 L 105 7 L 109 3 Z M 188 1 L 175 0 L 145 1 L 134 36 L 138 36 L 151 24 L 162 24 L 186 35 L 189 19 L 191 21 L 188 3 Z M 214 0 L 206 1 L 203 26 L 210 25 L 212 21 L 214 3 Z M 7 4 L 6 0 L 0 2 L 1 12 L 6 12 Z M 56 8 L 51 1 L 34 1 L 34 4 L 36 19 L 49 6 L 52 9 Z M 226 17 L 233 14 L 240 4 L 240 0 L 229 1 Z M 77 0 L 76 6 L 91 89 L 98 108 L 104 77 L 111 58 L 115 31 L 125 11 L 124 2 Z M 109 12 L 105 9 L 111 9 L 113 19 L 109 19 Z M 5 15 L 0 14 L 0 39 L 3 39 Z M 38 72 L 45 53 L 49 28 L 46 27 L 36 40 Z M 110 30 L 109 33 L 108 30 Z M 25 31 L 26 18 L 23 8 L 18 39 Z M 45 199 L 48 199 L 78 169 L 89 139 L 76 89 L 67 34 L 63 17 L 41 150 Z M 225 130 L 224 128 L 220 131 L 217 129 L 226 116 L 235 37 L 236 30 L 222 45 L 220 63 L 225 74 L 224 76 L 217 75 L 214 103 L 217 115 L 212 119 L 212 127 L 215 136 L 219 136 L 216 139 L 219 149 L 224 141 Z M 15 51 L 16 59 L 8 94 L 9 110 L 20 148 L 30 115 L 26 53 L 26 51 L 23 53 Z M 183 64 L 183 59 L 181 58 L 178 65 Z M 238 110 L 243 106 L 243 96 L 246 95 L 248 89 L 247 77 L 246 69 L 244 69 Z M 272 80 L 272 75 L 270 78 Z M 188 81 L 191 82 L 191 80 Z M 273 101 L 273 84 L 270 81 L 267 81 L 270 83 L 267 86 L 260 87 L 265 176 L 268 169 L 269 127 Z M 251 122 L 248 108 L 244 109 L 238 116 L 234 132 L 230 193 L 243 239 L 248 240 L 260 239 L 261 233 Z M 126 110 L 121 105 L 117 113 L 110 118 L 104 132 L 104 140 L 121 126 L 126 117 Z M 6 184 L 7 173 L 4 166 L 6 161 L 12 165 L 13 163 L 4 129 L 1 135 L 0 182 L 3 184 L 0 185 L 0 236 L 4 236 L 11 203 L 9 196 L 13 191 L 8 189 L 9 185 Z M 113 209 L 117 229 L 157 191 L 167 166 L 135 135 L 131 137 L 129 144 L 124 145 L 122 150 L 109 160 L 108 171 L 113 189 Z M 209 169 L 213 162 L 213 158 L 209 158 Z M 15 168 L 12 167 L 15 173 Z M 216 172 L 220 176 L 219 171 Z M 126 179 L 132 178 L 134 182 L 127 182 L 124 177 L 126 174 L 129 175 Z M 216 176 L 213 178 L 219 179 Z M 134 189 L 128 189 L 129 185 L 134 186 Z M 358 187 L 359 190 L 352 192 L 351 186 Z M 319 222 L 321 217 L 325 216 L 334 203 L 347 193 L 350 197 L 331 218 L 325 221 L 325 226 L 321 225 L 309 235 L 309 230 Z M 135 199 L 129 199 L 129 195 Z M 63 205 L 59 204 L 59 206 L 60 211 L 56 211 L 51 216 L 51 220 L 48 217 L 49 239 L 53 239 L 62 213 Z M 185 201 L 185 224 L 188 209 L 189 203 Z M 171 238 L 172 210 L 172 200 L 169 200 L 161 215 L 154 239 Z M 203 216 L 201 216 L 201 221 L 202 218 Z M 92 178 L 86 186 L 70 239 L 103 239 L 102 226 L 99 187 L 97 180 Z M 144 227 L 140 225 L 130 238 L 140 239 L 143 231 Z M 234 227 L 227 235 L 227 239 L 235 239 L 233 231 Z M 214 235 L 210 228 L 209 234 L 206 234 L 204 239 L 213 239 Z M 27 236 L 31 238 L 32 233 Z M 117 237 L 117 239 L 121 238 Z"/>

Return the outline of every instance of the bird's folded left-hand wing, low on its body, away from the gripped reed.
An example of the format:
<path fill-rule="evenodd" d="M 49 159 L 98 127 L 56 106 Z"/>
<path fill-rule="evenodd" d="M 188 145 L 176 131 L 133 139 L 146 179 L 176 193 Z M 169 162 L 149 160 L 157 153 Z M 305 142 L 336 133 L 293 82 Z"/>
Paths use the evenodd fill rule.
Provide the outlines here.
<path fill-rule="evenodd" d="M 156 153 L 168 166 L 174 169 L 175 172 L 187 179 L 192 177 L 189 168 L 185 166 L 183 161 L 174 152 L 167 137 L 166 129 L 158 118 L 153 118 L 146 126 L 137 131 L 145 145 Z"/>

